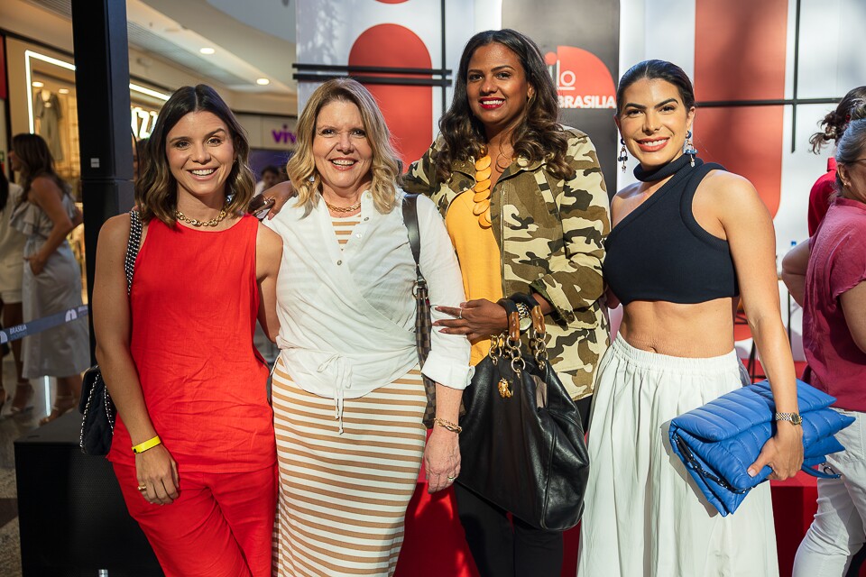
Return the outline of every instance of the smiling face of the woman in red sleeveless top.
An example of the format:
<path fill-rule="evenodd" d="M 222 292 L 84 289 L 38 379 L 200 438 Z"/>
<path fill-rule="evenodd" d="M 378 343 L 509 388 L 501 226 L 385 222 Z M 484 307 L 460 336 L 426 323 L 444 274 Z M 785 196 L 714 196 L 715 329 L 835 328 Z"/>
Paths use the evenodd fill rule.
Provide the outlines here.
<path fill-rule="evenodd" d="M 199 111 L 182 116 L 166 136 L 165 154 L 178 182 L 179 202 L 184 193 L 202 200 L 225 196 L 235 146 L 217 114 Z"/>

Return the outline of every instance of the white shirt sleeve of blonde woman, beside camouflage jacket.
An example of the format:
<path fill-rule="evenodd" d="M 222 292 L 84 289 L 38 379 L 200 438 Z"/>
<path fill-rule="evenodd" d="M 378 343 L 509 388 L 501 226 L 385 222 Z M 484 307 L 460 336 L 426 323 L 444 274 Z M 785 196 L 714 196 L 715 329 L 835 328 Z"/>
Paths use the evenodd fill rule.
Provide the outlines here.
<path fill-rule="evenodd" d="M 427 279 L 432 322 L 447 319 L 438 306 L 459 307 L 465 302 L 463 278 L 454 246 L 445 229 L 442 216 L 428 197 L 418 197 L 418 226 L 421 237 L 419 264 Z M 469 366 L 470 344 L 462 334 L 443 334 L 433 327 L 430 354 L 422 372 L 428 378 L 451 389 L 465 389 L 474 369 Z"/>

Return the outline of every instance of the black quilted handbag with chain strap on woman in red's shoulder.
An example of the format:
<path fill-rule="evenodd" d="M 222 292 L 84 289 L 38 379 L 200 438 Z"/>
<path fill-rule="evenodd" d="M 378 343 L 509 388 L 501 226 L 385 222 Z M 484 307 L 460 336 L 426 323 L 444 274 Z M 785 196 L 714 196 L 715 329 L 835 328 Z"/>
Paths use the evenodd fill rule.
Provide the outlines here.
<path fill-rule="evenodd" d="M 124 259 L 127 296 L 133 288 L 135 258 L 142 243 L 142 219 L 137 210 L 129 212 L 129 221 L 129 241 L 126 243 Z M 102 379 L 99 365 L 93 365 L 84 373 L 78 412 L 83 416 L 81 434 L 78 437 L 81 452 L 94 456 L 108 454 L 108 450 L 111 449 L 111 438 L 115 434 L 117 410 L 111 395 L 108 394 L 106 381 Z"/>

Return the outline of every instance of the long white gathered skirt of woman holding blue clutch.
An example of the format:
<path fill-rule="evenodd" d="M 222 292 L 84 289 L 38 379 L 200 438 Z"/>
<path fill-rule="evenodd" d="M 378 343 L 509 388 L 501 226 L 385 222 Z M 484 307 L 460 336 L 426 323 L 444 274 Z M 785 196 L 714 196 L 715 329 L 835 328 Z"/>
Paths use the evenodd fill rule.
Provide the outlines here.
<path fill-rule="evenodd" d="M 749 383 L 736 353 L 687 359 L 618 337 L 589 427 L 579 577 L 776 577 L 769 483 L 722 517 L 670 449 L 670 420 Z"/>

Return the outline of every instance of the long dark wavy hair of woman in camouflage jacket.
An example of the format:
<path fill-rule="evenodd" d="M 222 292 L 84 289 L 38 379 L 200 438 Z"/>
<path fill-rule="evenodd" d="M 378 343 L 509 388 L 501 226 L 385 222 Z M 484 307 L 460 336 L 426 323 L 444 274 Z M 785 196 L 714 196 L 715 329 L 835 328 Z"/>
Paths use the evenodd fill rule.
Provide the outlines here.
<path fill-rule="evenodd" d="M 475 50 L 494 42 L 514 52 L 523 67 L 527 82 L 535 90 L 535 95 L 523 110 L 520 123 L 511 133 L 514 152 L 530 162 L 547 159 L 548 172 L 551 175 L 558 179 L 571 178 L 574 170 L 566 160 L 568 136 L 558 123 L 557 87 L 553 78 L 550 78 L 544 56 L 530 38 L 508 28 L 478 32 L 466 42 L 455 78 L 454 99 L 447 113 L 439 119 L 439 133 L 445 140 L 445 146 L 436 158 L 438 177 L 447 180 L 451 175 L 451 163 L 454 160 L 477 157 L 484 147 L 484 124 L 475 118 L 469 107 L 466 81 L 469 60 L 472 60 Z"/>

